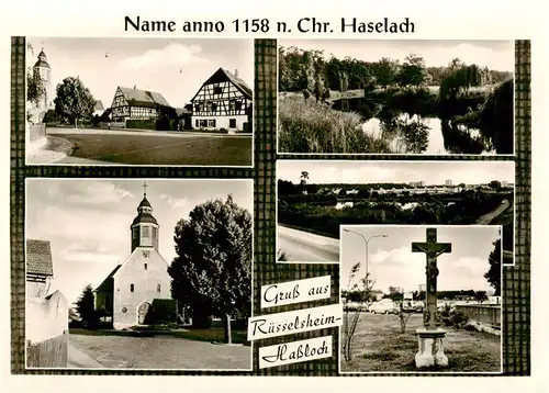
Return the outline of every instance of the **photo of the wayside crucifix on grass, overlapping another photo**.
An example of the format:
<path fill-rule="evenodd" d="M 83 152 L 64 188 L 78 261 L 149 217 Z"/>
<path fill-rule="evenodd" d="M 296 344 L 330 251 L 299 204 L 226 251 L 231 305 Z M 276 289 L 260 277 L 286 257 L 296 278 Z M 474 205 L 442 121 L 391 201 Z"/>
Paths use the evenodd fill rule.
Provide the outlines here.
<path fill-rule="evenodd" d="M 341 373 L 502 371 L 501 225 L 341 225 Z"/>

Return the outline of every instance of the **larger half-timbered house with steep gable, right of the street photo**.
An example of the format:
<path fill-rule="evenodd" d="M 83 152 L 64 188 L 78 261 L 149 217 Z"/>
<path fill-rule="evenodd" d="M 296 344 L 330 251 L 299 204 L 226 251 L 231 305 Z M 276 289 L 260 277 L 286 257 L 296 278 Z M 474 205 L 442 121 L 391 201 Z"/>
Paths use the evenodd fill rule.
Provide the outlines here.
<path fill-rule="evenodd" d="M 217 69 L 191 99 L 192 126 L 203 130 L 249 132 L 251 89 L 238 74 Z"/>

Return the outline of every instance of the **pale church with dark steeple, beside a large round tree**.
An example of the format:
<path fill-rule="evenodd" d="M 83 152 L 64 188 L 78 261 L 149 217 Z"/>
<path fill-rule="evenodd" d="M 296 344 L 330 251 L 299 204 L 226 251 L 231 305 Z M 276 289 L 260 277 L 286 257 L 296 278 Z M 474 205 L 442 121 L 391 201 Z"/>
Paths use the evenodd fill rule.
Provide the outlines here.
<path fill-rule="evenodd" d="M 168 262 L 158 251 L 159 228 L 147 200 L 146 183 L 132 222 L 131 254 L 94 290 L 96 310 L 112 317 L 115 329 L 144 325 L 155 304 L 171 300 Z"/>

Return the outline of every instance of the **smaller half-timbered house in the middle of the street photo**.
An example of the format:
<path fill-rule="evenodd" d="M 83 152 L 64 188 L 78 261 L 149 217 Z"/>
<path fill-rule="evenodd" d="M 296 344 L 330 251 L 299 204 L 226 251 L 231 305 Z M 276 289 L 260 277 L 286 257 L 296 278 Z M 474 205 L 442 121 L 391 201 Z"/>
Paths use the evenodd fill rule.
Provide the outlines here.
<path fill-rule="evenodd" d="M 111 120 L 125 122 L 126 120 L 158 119 L 163 111 L 172 108 L 163 94 L 155 91 L 117 87 L 111 105 Z"/>

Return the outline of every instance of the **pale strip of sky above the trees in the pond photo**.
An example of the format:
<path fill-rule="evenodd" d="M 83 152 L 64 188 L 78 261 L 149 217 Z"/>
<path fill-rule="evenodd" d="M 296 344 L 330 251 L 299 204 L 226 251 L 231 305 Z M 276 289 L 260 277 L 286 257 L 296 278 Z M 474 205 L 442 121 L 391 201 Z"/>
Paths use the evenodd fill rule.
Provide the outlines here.
<path fill-rule="evenodd" d="M 365 61 L 382 57 L 399 59 L 414 53 L 423 56 L 427 67 L 447 66 L 452 58 L 497 71 L 515 70 L 513 41 L 445 40 L 279 40 L 284 47 L 324 50 L 325 56 L 350 56 Z"/>

